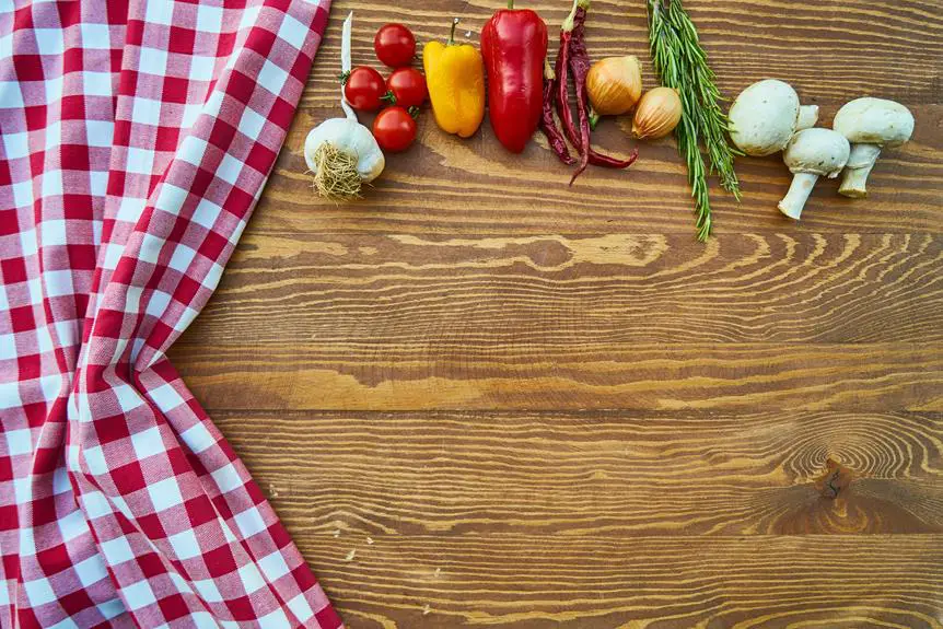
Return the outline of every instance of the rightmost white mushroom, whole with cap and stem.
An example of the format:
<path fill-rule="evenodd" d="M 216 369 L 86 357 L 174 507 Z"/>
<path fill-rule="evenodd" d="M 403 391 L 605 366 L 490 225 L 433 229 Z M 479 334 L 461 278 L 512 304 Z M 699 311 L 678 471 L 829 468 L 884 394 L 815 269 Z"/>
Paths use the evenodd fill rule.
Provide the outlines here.
<path fill-rule="evenodd" d="M 899 147 L 913 133 L 913 115 L 894 101 L 855 98 L 835 115 L 831 127 L 851 142 L 851 156 L 838 193 L 846 197 L 868 196 L 864 185 L 881 149 Z"/>

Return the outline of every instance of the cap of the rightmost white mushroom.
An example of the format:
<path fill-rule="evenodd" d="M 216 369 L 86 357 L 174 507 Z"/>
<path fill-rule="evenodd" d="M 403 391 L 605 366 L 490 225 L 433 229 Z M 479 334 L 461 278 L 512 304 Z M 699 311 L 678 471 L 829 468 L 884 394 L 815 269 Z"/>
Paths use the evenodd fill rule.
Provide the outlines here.
<path fill-rule="evenodd" d="M 854 144 L 899 147 L 913 133 L 913 114 L 900 103 L 865 96 L 846 103 L 831 127 Z"/>

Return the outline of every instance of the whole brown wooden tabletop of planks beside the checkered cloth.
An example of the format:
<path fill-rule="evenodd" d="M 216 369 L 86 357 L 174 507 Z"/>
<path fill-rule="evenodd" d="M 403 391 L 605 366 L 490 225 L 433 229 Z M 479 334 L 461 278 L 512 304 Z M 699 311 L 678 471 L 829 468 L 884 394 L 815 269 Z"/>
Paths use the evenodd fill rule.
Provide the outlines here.
<path fill-rule="evenodd" d="M 671 139 L 569 189 L 543 138 L 426 113 L 362 202 L 317 200 L 301 147 L 340 115 L 353 4 L 174 350 L 349 627 L 943 627 L 943 3 L 686 2 L 730 96 L 917 117 L 870 198 L 822 182 L 798 224 L 781 160 L 738 161 L 707 245 Z M 477 45 L 499 4 L 358 4 L 354 63 L 392 21 Z M 556 40 L 569 2 L 527 4 Z M 653 86 L 643 7 L 594 0 L 587 44 Z M 816 485 L 829 458 L 850 485 Z"/>

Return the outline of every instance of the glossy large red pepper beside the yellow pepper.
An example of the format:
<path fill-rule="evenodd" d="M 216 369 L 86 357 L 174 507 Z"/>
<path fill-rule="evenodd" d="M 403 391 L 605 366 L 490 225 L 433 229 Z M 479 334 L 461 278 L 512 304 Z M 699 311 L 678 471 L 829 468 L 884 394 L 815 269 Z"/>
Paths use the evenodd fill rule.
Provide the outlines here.
<path fill-rule="evenodd" d="M 540 121 L 547 25 L 529 9 L 497 11 L 481 31 L 488 71 L 491 128 L 504 147 L 520 153 Z"/>

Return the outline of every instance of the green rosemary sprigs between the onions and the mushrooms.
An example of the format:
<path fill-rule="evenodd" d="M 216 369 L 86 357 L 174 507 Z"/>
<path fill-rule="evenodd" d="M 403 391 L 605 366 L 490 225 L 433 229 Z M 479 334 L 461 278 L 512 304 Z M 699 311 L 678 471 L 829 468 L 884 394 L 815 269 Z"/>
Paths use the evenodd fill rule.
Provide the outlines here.
<path fill-rule="evenodd" d="M 678 152 L 688 165 L 688 183 L 697 212 L 698 240 L 711 232 L 708 174 L 717 173 L 721 186 L 740 200 L 740 183 L 733 168 L 741 154 L 726 140 L 729 120 L 720 107 L 723 100 L 717 78 L 707 62 L 698 33 L 682 0 L 645 0 L 652 62 L 663 85 L 674 88 L 682 98 L 682 120 L 675 129 Z M 699 147 L 703 141 L 710 171 Z"/>

